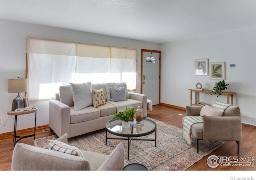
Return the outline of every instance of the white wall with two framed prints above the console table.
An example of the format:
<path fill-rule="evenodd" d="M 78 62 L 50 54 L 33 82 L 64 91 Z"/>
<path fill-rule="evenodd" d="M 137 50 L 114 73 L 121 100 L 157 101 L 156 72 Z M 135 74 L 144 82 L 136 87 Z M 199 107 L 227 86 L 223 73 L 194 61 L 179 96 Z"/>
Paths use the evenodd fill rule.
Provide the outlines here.
<path fill-rule="evenodd" d="M 227 91 L 236 92 L 234 105 L 244 116 L 256 118 L 256 27 L 161 44 L 161 102 L 190 105 L 190 91 L 200 82 L 212 90 L 216 80 L 194 75 L 194 60 L 226 62 Z M 236 64 L 230 68 L 229 64 Z M 193 93 L 194 94 L 194 93 Z M 200 94 L 199 100 L 212 104 L 226 102 L 227 96 Z"/>

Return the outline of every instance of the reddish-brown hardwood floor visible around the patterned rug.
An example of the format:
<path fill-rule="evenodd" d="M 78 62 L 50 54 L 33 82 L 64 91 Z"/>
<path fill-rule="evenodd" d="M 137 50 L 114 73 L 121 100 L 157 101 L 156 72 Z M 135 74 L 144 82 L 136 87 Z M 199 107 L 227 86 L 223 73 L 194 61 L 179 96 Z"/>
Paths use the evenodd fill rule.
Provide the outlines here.
<path fill-rule="evenodd" d="M 153 106 L 153 111 L 148 111 L 148 117 L 160 120 L 167 124 L 182 128 L 181 119 L 186 115 L 186 111 L 179 110 L 176 108 L 170 108 L 167 106 L 156 105 Z M 53 132 L 43 132 L 44 129 L 48 129 L 48 126 L 36 128 L 36 138 L 42 138 L 53 135 Z M 23 135 L 31 134 L 28 130 L 18 131 L 17 134 L 22 133 Z M 209 155 L 205 156 L 187 170 L 256 170 L 250 166 L 218 166 L 216 168 L 210 168 L 206 160 L 210 155 L 216 156 L 239 156 L 239 158 L 248 158 L 256 155 L 256 126 L 242 124 L 242 141 L 240 142 L 240 154 L 237 154 L 237 144 L 233 141 L 225 141 L 224 145 L 214 150 Z M 34 146 L 34 137 L 24 138 L 19 142 L 30 144 Z M 200 141 L 199 141 L 200 143 Z M 199 144 L 200 146 L 200 144 Z M 12 162 L 12 151 L 14 148 L 13 136 L 10 133 L 9 136 L 1 136 L 0 134 L 0 170 L 11 170 Z"/>

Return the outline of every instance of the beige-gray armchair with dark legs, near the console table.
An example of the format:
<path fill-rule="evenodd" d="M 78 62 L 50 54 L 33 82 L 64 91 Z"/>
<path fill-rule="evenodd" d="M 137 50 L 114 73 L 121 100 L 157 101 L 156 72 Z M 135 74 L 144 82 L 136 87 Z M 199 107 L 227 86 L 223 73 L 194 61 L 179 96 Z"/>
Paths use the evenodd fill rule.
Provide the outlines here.
<path fill-rule="evenodd" d="M 182 125 L 187 116 L 200 116 L 202 107 L 186 106 L 186 116 L 182 118 Z M 242 120 L 238 106 L 229 106 L 222 116 L 202 116 L 202 123 L 191 126 L 191 134 L 197 140 L 236 141 L 237 153 L 242 138 Z"/>

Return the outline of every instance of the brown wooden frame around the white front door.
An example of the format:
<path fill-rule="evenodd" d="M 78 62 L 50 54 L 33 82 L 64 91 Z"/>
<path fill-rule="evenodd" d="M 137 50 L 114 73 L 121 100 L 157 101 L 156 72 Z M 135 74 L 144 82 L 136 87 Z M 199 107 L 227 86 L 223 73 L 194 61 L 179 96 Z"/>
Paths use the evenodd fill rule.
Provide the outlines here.
<path fill-rule="evenodd" d="M 141 49 L 140 52 L 140 94 L 142 94 L 142 76 L 143 76 L 143 52 L 155 52 L 159 53 L 159 104 L 160 102 L 160 97 L 161 97 L 161 51 L 158 50 L 148 50 L 148 49 Z"/>

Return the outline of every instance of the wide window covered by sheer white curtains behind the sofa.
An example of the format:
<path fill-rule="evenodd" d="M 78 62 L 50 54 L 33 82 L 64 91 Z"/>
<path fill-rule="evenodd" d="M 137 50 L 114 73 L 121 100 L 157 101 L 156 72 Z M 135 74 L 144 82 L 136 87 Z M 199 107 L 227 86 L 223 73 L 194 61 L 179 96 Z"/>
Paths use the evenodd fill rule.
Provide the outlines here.
<path fill-rule="evenodd" d="M 136 89 L 136 49 L 27 38 L 27 96 L 54 99 L 62 85 L 126 82 Z"/>

